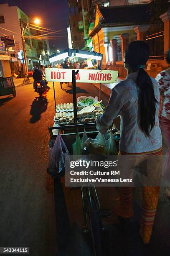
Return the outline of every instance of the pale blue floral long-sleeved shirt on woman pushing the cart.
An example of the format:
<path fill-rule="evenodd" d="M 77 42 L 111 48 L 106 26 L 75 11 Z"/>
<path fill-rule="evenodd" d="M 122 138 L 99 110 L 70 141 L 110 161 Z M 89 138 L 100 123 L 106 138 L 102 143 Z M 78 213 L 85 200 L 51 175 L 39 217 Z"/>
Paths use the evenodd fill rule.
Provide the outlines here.
<path fill-rule="evenodd" d="M 155 126 L 150 132 L 150 138 L 140 130 L 138 121 L 138 88 L 136 85 L 138 72 L 127 75 L 113 89 L 103 115 L 96 121 L 96 128 L 106 133 L 113 120 L 120 114 L 120 151 L 127 153 L 143 153 L 154 151 L 162 146 L 162 136 L 159 127 L 160 92 L 157 81 L 151 77 L 156 103 Z"/>

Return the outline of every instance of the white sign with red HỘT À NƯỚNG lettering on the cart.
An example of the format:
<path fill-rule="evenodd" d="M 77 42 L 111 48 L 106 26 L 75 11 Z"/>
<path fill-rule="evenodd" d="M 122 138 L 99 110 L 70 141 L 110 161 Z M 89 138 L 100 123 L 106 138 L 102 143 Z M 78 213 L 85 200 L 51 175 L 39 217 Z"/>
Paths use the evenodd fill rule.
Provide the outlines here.
<path fill-rule="evenodd" d="M 46 80 L 51 82 L 72 82 L 72 70 L 77 69 L 46 69 Z M 118 72 L 114 70 L 79 69 L 76 75 L 77 83 L 117 82 Z"/>

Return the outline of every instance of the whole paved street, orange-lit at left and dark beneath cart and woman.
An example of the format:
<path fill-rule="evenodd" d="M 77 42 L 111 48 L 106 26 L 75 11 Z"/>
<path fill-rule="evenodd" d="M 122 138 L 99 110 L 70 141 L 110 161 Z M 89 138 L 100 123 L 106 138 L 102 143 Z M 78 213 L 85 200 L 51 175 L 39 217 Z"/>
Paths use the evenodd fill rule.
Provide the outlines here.
<path fill-rule="evenodd" d="M 48 126 L 55 113 L 52 84 L 43 100 L 33 85 L 17 87 L 17 97 L 0 98 L 0 246 L 29 246 L 30 256 L 91 256 L 91 244 L 81 233 L 80 191 L 64 188 L 71 223 L 71 240 L 58 252 L 53 180 L 46 174 L 48 164 Z M 71 88 L 63 92 L 57 84 L 57 103 L 71 102 Z M 78 84 L 77 96 L 98 95 L 91 84 Z M 107 97 L 103 95 L 104 103 Z M 64 180 L 62 179 L 64 184 Z M 117 191 L 98 189 L 102 208 L 110 208 L 111 218 L 103 237 L 105 255 L 168 256 L 170 251 L 170 202 L 161 190 L 154 233 L 144 246 L 138 235 L 141 214 L 140 189 L 134 189 L 133 223 L 122 225 L 116 214 Z M 62 218 L 62 215 L 59 216 Z"/>

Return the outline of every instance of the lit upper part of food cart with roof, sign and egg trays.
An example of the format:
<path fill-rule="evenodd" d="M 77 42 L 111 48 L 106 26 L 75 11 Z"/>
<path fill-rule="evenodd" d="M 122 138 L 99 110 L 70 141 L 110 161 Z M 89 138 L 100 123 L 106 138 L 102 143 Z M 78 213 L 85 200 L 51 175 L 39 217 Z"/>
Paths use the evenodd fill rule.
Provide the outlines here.
<path fill-rule="evenodd" d="M 66 49 L 58 54 L 54 54 L 50 57 L 50 62 L 53 63 L 59 59 L 65 59 L 69 57 L 81 57 L 91 58 L 101 61 L 102 54 L 90 51 L 81 51 L 75 49 Z M 46 80 L 53 82 L 54 102 L 55 102 L 55 116 L 54 127 L 49 128 L 51 138 L 55 139 L 55 130 L 60 130 L 61 133 L 67 134 L 67 131 L 71 132 L 74 128 L 87 128 L 87 130 L 96 131 L 95 119 L 99 113 L 103 112 L 101 102 L 101 84 L 102 83 L 114 83 L 117 82 L 117 71 L 112 70 L 95 70 L 95 69 L 46 69 Z M 71 82 L 73 90 L 73 102 L 56 104 L 56 82 Z M 99 101 L 93 97 L 81 97 L 77 102 L 76 97 L 76 83 L 100 83 Z M 80 97 L 79 97 L 80 98 Z M 92 100 L 92 104 L 83 105 L 83 100 Z M 99 104 L 98 104 L 99 103 Z M 101 103 L 101 104 L 100 104 Z M 84 109 L 82 109 L 84 107 Z M 86 108 L 85 108 L 86 107 Z"/>

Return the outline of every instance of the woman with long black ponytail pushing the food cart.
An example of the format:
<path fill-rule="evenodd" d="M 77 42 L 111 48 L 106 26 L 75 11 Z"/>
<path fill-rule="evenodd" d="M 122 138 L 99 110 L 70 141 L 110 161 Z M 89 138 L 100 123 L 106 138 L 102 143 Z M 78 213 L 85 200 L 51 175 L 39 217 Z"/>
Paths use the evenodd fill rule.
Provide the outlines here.
<path fill-rule="evenodd" d="M 107 133 L 120 114 L 119 156 L 134 156 L 137 161 L 147 156 L 159 156 L 160 161 L 152 161 L 154 177 L 161 173 L 162 136 L 158 119 L 159 87 L 157 81 L 143 69 L 149 56 L 150 49 L 144 41 L 133 41 L 127 46 L 124 54 L 127 77 L 112 89 L 108 105 L 96 121 L 96 128 L 103 134 Z M 150 241 L 159 192 L 159 186 L 142 187 L 140 236 L 143 243 Z M 122 218 L 131 218 L 132 188 L 120 187 L 119 193 L 117 213 Z"/>

